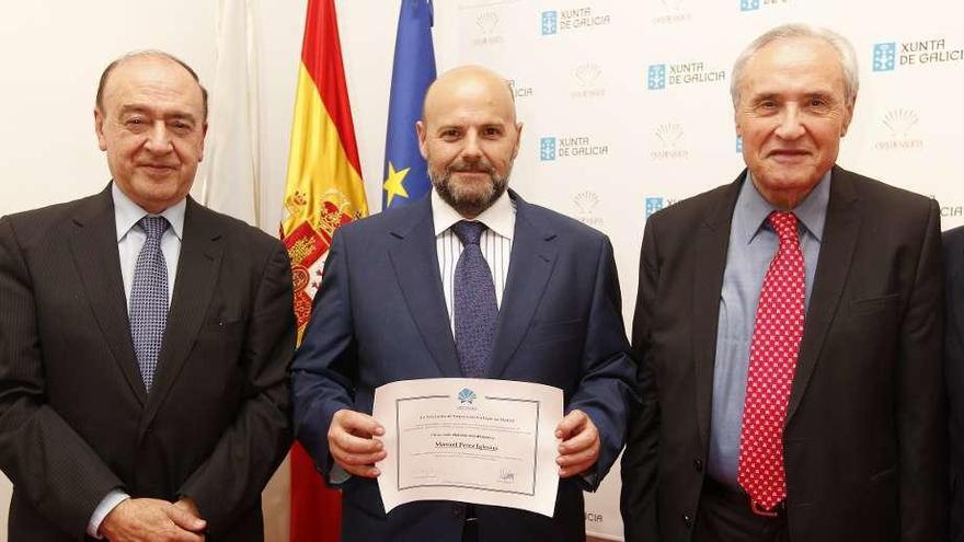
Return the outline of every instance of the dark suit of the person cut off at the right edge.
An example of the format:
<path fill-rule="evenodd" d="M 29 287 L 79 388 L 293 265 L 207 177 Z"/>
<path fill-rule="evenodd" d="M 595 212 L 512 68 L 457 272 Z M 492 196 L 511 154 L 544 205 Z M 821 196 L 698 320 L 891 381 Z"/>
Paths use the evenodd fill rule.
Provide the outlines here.
<path fill-rule="evenodd" d="M 943 234 L 946 269 L 944 374 L 951 428 L 951 537 L 964 542 L 964 227 Z"/>

